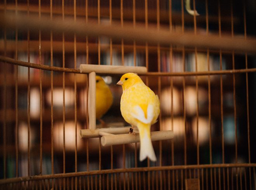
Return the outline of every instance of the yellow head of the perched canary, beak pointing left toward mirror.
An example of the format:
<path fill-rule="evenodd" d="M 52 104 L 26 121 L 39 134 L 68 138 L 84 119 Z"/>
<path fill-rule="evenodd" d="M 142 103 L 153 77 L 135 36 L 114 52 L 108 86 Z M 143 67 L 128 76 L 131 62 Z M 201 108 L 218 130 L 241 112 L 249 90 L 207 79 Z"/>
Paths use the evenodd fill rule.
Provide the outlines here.
<path fill-rule="evenodd" d="M 125 91 L 126 89 L 128 89 L 129 87 L 133 86 L 138 82 L 142 82 L 142 80 L 137 74 L 126 73 L 121 77 L 117 84 L 121 85 L 123 87 L 123 90 Z"/>

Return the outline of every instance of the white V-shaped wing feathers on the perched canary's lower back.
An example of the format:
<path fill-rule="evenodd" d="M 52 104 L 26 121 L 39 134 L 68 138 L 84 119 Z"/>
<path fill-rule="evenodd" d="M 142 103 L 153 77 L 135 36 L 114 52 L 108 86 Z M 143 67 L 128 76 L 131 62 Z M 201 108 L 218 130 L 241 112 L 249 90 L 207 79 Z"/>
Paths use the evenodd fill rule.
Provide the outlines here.
<path fill-rule="evenodd" d="M 152 122 L 152 119 L 154 117 L 154 106 L 152 104 L 149 104 L 147 106 L 147 118 L 145 117 L 144 111 L 142 110 L 142 108 L 140 106 L 138 106 L 138 105 L 134 106 L 133 110 L 135 111 L 135 113 L 131 113 L 131 116 L 133 116 L 140 122 L 145 123 L 145 124 Z"/>

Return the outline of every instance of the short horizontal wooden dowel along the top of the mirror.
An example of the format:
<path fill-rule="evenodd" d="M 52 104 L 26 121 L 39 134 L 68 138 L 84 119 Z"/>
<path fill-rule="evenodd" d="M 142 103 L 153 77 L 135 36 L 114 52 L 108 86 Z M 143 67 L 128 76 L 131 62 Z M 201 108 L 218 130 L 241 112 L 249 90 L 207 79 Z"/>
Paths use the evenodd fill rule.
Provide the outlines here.
<path fill-rule="evenodd" d="M 134 67 L 134 66 L 117 66 L 117 65 L 80 65 L 81 73 L 96 72 L 97 74 L 125 74 L 128 72 L 133 72 L 137 74 L 144 74 L 147 72 L 146 67 Z"/>

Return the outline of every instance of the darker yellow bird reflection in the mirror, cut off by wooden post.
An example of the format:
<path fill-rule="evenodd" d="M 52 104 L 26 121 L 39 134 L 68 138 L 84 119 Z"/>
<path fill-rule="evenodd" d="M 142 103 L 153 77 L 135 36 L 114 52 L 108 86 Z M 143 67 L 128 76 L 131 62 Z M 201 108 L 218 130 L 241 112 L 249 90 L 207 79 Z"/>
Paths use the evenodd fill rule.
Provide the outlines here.
<path fill-rule="evenodd" d="M 101 118 L 109 110 L 112 103 L 113 96 L 109 86 L 102 77 L 96 75 L 96 119 L 102 125 L 105 125 L 105 122 Z"/>

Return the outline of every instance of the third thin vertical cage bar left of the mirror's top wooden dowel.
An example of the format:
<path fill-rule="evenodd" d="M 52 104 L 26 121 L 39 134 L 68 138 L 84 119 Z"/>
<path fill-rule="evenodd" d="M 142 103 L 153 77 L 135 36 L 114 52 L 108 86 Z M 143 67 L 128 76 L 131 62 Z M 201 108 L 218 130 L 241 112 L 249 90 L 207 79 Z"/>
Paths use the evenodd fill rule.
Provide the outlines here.
<path fill-rule="evenodd" d="M 52 20 L 52 0 L 50 0 L 50 19 Z M 52 31 L 50 32 L 50 49 L 51 49 L 51 67 L 53 66 L 53 45 Z M 53 140 L 53 71 L 51 70 L 51 162 L 52 174 L 54 173 L 54 140 Z M 54 180 L 52 180 L 52 188 L 54 188 Z"/>

